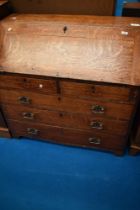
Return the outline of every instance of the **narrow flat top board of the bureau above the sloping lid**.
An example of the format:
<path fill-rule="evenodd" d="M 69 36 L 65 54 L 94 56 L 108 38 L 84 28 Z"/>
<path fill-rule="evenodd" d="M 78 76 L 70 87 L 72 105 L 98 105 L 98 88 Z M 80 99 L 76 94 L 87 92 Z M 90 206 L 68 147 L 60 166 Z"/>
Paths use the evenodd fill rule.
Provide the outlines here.
<path fill-rule="evenodd" d="M 125 26 L 139 27 L 140 19 L 133 17 L 115 17 L 115 16 L 93 16 L 93 15 L 54 15 L 54 14 L 18 14 L 9 15 L 1 22 L 6 23 L 28 22 L 45 24 L 45 22 L 62 22 L 63 24 L 82 24 L 82 25 L 104 25 L 104 26 Z"/>

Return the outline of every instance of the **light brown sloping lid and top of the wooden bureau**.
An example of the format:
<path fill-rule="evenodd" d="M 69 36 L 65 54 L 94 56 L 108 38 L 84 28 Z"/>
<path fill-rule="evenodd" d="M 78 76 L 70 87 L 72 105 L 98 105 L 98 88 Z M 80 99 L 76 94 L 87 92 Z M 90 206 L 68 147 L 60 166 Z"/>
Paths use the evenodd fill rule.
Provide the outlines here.
<path fill-rule="evenodd" d="M 0 71 L 140 85 L 138 18 L 12 15 L 0 43 Z"/>

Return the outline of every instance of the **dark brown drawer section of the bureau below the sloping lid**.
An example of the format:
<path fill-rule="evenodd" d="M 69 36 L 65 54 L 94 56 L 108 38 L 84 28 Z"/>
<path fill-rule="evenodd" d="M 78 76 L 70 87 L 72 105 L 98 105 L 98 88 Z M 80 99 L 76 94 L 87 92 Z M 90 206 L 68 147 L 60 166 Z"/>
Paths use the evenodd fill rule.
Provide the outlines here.
<path fill-rule="evenodd" d="M 115 154 L 123 154 L 127 145 L 138 95 L 136 87 L 126 85 L 9 73 L 0 77 L 0 104 L 13 137 Z"/>

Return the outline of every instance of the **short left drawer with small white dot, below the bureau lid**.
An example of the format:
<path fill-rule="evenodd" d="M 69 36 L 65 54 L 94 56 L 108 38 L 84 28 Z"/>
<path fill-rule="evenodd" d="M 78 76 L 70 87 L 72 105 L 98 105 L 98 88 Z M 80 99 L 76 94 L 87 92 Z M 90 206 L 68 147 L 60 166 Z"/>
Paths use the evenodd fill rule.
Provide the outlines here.
<path fill-rule="evenodd" d="M 17 75 L 1 75 L 0 88 L 24 89 L 45 94 L 57 94 L 56 79 L 37 79 Z"/>

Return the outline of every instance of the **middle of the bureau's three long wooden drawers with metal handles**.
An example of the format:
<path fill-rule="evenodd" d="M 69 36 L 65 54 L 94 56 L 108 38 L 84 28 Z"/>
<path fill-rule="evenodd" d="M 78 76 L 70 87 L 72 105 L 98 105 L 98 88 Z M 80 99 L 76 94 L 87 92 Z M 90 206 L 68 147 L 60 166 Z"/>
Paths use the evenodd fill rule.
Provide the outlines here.
<path fill-rule="evenodd" d="M 126 135 L 129 122 L 108 120 L 91 115 L 68 113 L 63 111 L 39 110 L 25 106 L 3 106 L 7 119 L 22 122 L 42 123 L 52 126 L 60 126 L 75 129 L 98 131 L 99 133 L 116 133 Z"/>

